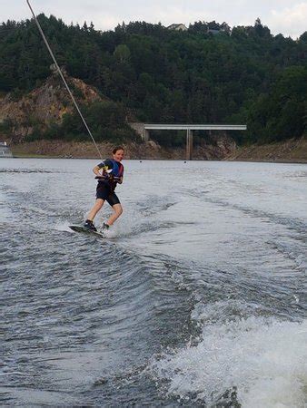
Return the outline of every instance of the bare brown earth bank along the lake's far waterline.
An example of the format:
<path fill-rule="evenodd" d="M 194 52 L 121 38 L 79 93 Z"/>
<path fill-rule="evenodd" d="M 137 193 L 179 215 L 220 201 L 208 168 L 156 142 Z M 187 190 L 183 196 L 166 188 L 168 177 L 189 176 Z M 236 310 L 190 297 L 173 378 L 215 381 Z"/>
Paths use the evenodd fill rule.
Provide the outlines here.
<path fill-rule="evenodd" d="M 127 160 L 186 160 L 185 147 L 164 148 L 154 141 L 127 142 L 123 146 Z M 101 142 L 98 147 L 102 156 L 108 157 L 114 144 Z M 10 149 L 16 159 L 100 160 L 93 143 L 88 141 L 29 141 L 13 144 Z M 195 146 L 192 160 L 305 164 L 307 139 L 237 147 L 231 152 L 215 149 L 212 145 Z"/>

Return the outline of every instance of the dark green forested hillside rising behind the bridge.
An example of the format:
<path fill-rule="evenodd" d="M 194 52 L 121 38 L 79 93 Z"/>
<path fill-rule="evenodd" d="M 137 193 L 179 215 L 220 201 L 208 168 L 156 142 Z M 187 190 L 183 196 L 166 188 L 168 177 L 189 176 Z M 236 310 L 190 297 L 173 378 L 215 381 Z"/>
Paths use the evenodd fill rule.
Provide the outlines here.
<path fill-rule="evenodd" d="M 307 32 L 297 41 L 273 36 L 259 19 L 232 30 L 198 22 L 186 32 L 144 22 L 100 32 L 54 16 L 39 21 L 66 72 L 139 121 L 247 123 L 248 131 L 235 135 L 239 143 L 306 132 Z M 18 99 L 40 86 L 51 63 L 33 20 L 1 24 L 3 96 Z"/>

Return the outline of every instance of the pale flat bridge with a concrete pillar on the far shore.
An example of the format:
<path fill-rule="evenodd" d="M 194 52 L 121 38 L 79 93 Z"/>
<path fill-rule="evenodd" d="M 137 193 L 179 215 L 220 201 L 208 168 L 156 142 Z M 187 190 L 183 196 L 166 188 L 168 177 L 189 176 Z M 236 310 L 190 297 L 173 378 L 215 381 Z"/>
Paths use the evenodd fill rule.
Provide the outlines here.
<path fill-rule="evenodd" d="M 186 131 L 186 160 L 192 159 L 193 131 L 246 131 L 246 125 L 233 124 L 172 124 L 172 123 L 129 123 L 143 141 L 149 140 L 150 131 Z"/>

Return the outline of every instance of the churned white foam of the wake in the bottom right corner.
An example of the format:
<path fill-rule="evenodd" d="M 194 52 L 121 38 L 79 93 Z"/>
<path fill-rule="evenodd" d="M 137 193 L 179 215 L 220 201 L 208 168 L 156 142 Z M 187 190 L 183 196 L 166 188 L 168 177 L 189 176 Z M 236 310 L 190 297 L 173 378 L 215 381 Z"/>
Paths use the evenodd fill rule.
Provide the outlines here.
<path fill-rule="evenodd" d="M 203 312 L 203 315 L 205 312 Z M 307 387 L 307 324 L 237 317 L 203 326 L 198 345 L 165 353 L 151 371 L 168 394 L 197 394 L 209 406 L 236 390 L 243 407 L 303 407 Z"/>

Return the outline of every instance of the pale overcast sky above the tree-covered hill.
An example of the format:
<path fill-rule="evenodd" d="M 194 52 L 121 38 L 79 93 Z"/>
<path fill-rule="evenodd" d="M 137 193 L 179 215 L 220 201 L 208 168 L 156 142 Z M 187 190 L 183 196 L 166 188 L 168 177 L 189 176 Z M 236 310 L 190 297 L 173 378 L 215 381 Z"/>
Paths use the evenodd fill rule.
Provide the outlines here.
<path fill-rule="evenodd" d="M 114 29 L 118 23 L 146 21 L 169 25 L 194 21 L 224 21 L 253 25 L 257 17 L 272 34 L 297 38 L 307 31 L 307 0 L 30 0 L 35 13 L 61 17 L 65 23 L 93 21 L 99 30 Z M 30 10 L 25 0 L 0 0 L 0 21 L 24 20 Z"/>

